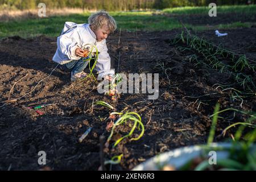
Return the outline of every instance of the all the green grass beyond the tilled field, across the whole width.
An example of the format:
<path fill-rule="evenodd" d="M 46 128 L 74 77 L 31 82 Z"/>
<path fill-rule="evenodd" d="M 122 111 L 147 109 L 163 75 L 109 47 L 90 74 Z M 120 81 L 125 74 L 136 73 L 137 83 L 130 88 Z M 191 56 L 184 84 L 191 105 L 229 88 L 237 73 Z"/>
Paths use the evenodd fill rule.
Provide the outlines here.
<path fill-rule="evenodd" d="M 204 12 L 204 7 L 180 7 L 174 9 L 165 9 L 158 14 L 155 11 L 140 12 L 110 12 L 117 21 L 118 28 L 124 31 L 161 31 L 172 30 L 174 28 L 182 28 L 181 24 L 175 19 L 163 15 L 162 13 L 177 14 L 193 14 L 196 12 Z M 218 7 L 218 12 L 256 12 L 256 6 L 222 6 Z M 207 11 L 208 12 L 208 11 Z M 256 13 L 255 13 L 256 14 Z M 7 36 L 19 35 L 23 38 L 46 35 L 56 37 L 59 36 L 64 23 L 66 21 L 76 23 L 86 23 L 90 13 L 72 14 L 65 16 L 51 16 L 48 18 L 12 20 L 10 22 L 0 22 L 0 38 Z M 218 24 L 216 26 L 194 26 L 193 24 L 185 24 L 188 28 L 195 31 L 214 30 L 224 28 L 251 27 L 255 23 L 234 22 L 229 24 Z"/>

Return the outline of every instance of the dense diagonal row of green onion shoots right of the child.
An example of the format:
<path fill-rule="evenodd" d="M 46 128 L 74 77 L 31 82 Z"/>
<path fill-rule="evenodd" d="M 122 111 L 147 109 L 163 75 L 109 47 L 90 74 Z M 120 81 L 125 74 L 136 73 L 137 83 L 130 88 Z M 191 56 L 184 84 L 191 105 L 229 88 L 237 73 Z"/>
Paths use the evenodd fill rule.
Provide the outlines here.
<path fill-rule="evenodd" d="M 192 55 L 190 57 L 189 61 L 195 62 L 196 66 L 202 63 L 203 65 L 208 64 L 211 68 L 216 69 L 216 71 L 232 75 L 237 84 L 243 86 L 243 90 L 253 92 L 256 89 L 255 79 L 253 79 L 256 65 L 249 63 L 245 55 L 238 55 L 221 46 L 215 46 L 197 36 L 184 35 L 184 32 L 176 35 L 172 43 L 181 44 L 181 46 L 178 46 L 180 51 L 196 51 L 194 55 L 203 57 L 202 60 L 200 60 L 199 56 Z"/>

